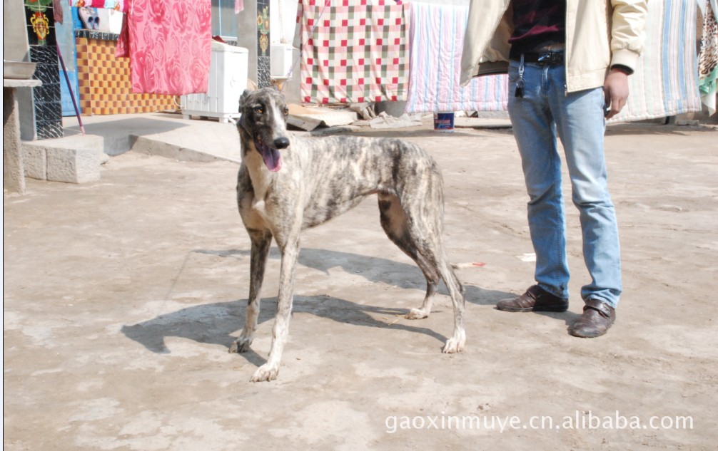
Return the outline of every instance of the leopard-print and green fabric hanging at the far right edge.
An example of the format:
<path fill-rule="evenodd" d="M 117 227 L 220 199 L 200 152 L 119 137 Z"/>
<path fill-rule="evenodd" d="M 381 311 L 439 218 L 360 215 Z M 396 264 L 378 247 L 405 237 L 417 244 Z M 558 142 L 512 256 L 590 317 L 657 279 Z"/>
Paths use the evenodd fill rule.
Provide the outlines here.
<path fill-rule="evenodd" d="M 718 24 L 717 1 L 706 1 L 703 11 L 703 37 L 698 54 L 698 79 L 701 101 L 709 115 L 716 112 L 716 81 L 718 79 Z"/>

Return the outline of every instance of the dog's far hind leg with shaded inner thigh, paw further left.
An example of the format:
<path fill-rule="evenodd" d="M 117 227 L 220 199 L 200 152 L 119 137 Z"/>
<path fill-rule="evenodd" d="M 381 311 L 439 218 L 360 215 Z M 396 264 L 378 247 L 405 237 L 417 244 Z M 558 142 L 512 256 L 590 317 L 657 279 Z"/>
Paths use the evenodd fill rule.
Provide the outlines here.
<path fill-rule="evenodd" d="M 412 308 L 406 314 L 406 318 L 417 320 L 426 318 L 432 313 L 432 305 L 434 303 L 434 295 L 439 287 L 439 273 L 436 265 L 426 262 L 424 257 L 417 252 L 416 244 L 411 239 L 409 229 L 407 228 L 407 217 L 404 209 L 401 208 L 401 202 L 398 197 L 393 194 L 379 194 L 379 214 L 381 216 L 381 227 L 386 232 L 386 236 L 391 239 L 399 249 L 409 255 L 416 265 L 419 266 L 421 272 L 426 278 L 426 296 L 424 303 L 420 308 Z"/>

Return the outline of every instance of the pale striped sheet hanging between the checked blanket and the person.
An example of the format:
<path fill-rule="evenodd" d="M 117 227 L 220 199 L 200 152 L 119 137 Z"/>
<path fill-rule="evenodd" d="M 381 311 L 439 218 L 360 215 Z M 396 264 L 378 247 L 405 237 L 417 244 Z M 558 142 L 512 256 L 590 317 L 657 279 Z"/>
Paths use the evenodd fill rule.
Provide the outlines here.
<path fill-rule="evenodd" d="M 411 72 L 406 113 L 501 111 L 508 76 L 475 77 L 461 87 L 461 49 L 468 6 L 411 4 Z"/>

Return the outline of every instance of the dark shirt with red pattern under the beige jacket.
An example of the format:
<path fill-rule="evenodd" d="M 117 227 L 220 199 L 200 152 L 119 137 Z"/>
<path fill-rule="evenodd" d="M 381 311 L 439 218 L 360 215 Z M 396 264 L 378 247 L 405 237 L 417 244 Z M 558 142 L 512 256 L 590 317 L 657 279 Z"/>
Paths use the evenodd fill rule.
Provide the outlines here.
<path fill-rule="evenodd" d="M 511 56 L 566 42 L 566 0 L 513 0 Z"/>

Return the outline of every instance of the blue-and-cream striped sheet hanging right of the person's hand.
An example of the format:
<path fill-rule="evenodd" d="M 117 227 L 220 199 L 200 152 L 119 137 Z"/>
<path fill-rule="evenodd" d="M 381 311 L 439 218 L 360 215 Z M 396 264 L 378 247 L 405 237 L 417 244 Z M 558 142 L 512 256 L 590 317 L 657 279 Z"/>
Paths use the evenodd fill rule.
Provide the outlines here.
<path fill-rule="evenodd" d="M 648 2 L 645 48 L 628 77 L 628 103 L 612 122 L 701 110 L 696 67 L 696 0 Z"/>

